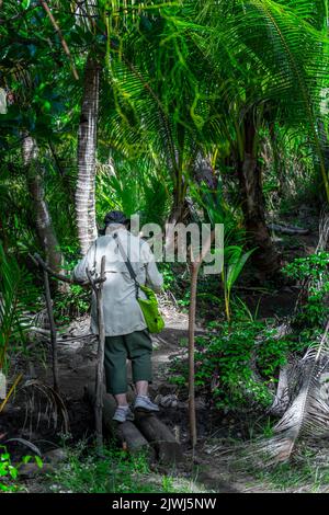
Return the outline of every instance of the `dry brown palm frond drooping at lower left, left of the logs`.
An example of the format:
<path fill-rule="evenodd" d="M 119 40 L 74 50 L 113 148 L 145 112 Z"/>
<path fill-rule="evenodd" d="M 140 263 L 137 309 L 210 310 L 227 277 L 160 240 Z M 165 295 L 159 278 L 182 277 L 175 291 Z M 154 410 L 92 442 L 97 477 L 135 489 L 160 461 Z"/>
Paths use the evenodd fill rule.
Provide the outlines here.
<path fill-rule="evenodd" d="M 25 381 L 22 390 L 26 394 L 24 427 L 30 421 L 32 433 L 33 423 L 35 423 L 35 428 L 38 428 L 41 421 L 46 419 L 48 428 L 53 424 L 54 431 L 69 432 L 69 417 L 64 400 L 52 387 L 31 379 Z"/>

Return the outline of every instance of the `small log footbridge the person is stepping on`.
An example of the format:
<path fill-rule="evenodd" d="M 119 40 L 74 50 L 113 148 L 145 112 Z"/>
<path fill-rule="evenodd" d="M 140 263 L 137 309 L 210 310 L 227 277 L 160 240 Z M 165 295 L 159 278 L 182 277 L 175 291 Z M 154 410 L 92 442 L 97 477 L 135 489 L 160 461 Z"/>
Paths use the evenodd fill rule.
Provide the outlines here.
<path fill-rule="evenodd" d="M 84 387 L 84 399 L 90 405 L 94 405 L 93 385 Z M 133 400 L 133 392 L 128 393 L 128 400 Z M 150 461 L 157 460 L 161 465 L 177 465 L 182 461 L 180 443 L 155 413 L 136 410 L 134 422 L 117 423 L 112 420 L 115 409 L 114 397 L 103 393 L 103 431 L 106 436 L 118 440 L 131 454 L 144 451 Z"/>

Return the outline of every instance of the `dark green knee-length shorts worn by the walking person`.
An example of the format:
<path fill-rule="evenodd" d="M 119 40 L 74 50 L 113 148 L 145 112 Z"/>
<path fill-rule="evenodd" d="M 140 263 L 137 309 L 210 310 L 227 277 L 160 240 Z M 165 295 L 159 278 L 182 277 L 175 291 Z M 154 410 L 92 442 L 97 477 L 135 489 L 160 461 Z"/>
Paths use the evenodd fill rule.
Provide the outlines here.
<path fill-rule="evenodd" d="M 105 337 L 104 368 L 106 390 L 114 396 L 126 393 L 126 359 L 132 360 L 133 381 L 151 382 L 152 341 L 147 329 L 122 336 Z"/>

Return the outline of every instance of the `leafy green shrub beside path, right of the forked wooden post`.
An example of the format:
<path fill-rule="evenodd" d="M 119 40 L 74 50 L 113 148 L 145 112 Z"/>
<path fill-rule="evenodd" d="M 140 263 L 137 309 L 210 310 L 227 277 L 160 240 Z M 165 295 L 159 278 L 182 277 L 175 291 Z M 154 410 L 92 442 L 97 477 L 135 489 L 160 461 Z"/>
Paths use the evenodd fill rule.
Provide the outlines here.
<path fill-rule="evenodd" d="M 195 339 L 195 386 L 218 409 L 269 405 L 270 387 L 290 352 L 306 343 L 293 337 L 277 339 L 265 322 L 242 320 L 212 322 L 206 335 Z M 188 365 L 177 358 L 171 382 L 186 385 Z"/>

